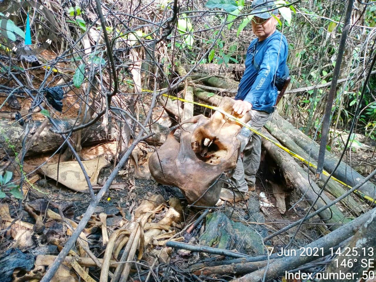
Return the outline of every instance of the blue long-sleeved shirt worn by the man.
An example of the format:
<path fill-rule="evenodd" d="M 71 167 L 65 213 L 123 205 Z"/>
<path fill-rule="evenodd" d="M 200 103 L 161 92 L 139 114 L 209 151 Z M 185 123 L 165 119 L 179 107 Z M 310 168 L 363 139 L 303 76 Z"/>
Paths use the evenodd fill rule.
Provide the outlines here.
<path fill-rule="evenodd" d="M 235 100 L 247 101 L 258 111 L 270 110 L 277 99 L 274 75 L 285 76 L 287 51 L 287 40 L 277 30 L 262 41 L 254 39 L 247 49 L 246 70 L 240 80 Z M 256 70 L 252 63 L 253 56 L 259 70 Z"/>

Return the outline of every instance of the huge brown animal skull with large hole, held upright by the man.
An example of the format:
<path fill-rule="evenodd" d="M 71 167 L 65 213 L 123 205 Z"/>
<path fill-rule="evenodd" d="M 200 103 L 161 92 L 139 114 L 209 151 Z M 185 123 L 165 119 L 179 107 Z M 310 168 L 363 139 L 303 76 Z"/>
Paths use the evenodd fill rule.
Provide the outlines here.
<path fill-rule="evenodd" d="M 234 102 L 223 97 L 219 107 L 231 113 Z M 249 120 L 249 113 L 241 118 Z M 214 206 L 223 182 L 213 183 L 222 173 L 230 177 L 236 167 L 241 126 L 218 111 L 211 118 L 198 115 L 181 124 L 186 123 L 191 124 L 181 129 L 180 143 L 174 138 L 175 127 L 150 157 L 150 173 L 159 183 L 180 188 L 190 204 L 202 196 L 196 206 Z"/>

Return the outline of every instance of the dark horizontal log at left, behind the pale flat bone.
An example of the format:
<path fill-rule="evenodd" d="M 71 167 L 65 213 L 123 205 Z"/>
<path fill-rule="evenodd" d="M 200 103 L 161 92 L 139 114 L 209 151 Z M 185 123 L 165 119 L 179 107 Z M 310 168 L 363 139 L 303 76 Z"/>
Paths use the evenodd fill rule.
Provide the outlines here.
<path fill-rule="evenodd" d="M 139 115 L 139 121 L 143 123 L 145 117 Z M 68 130 L 72 128 L 76 119 L 65 119 L 54 121 L 60 126 L 61 130 Z M 32 121 L 29 124 L 29 128 L 38 128 L 41 124 L 41 121 Z M 77 126 L 77 124 L 76 124 Z M 64 140 L 61 135 L 53 133 L 50 129 L 53 128 L 52 124 L 47 125 L 36 139 L 36 141 L 30 147 L 30 150 L 27 152 L 26 156 L 35 155 L 36 153 L 47 153 L 54 150 L 57 150 Z M 146 139 L 146 142 L 149 144 L 155 144 L 160 146 L 164 143 L 166 134 L 168 133 L 168 128 L 161 126 L 158 123 L 153 123 L 151 130 L 155 135 Z M 22 150 L 22 141 L 24 138 L 24 127 L 19 123 L 9 120 L 0 120 L 0 158 L 4 158 L 7 155 L 14 155 L 15 152 L 20 152 Z M 115 129 L 114 124 L 109 123 L 107 125 L 107 132 L 104 127 L 101 126 L 101 123 L 94 123 L 88 128 L 84 129 L 82 132 L 81 145 L 82 147 L 92 146 L 99 143 L 114 141 L 117 139 L 118 132 Z M 136 127 L 136 133 L 139 132 L 139 127 Z M 144 133 L 144 135 L 147 135 Z M 26 138 L 26 144 L 32 138 L 33 132 L 30 133 Z"/>

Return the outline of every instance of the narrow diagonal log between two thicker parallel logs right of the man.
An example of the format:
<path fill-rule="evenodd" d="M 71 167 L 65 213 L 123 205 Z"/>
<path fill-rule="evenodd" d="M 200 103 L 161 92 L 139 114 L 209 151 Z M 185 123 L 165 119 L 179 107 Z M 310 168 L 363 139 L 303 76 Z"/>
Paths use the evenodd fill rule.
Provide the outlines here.
<path fill-rule="evenodd" d="M 293 151 L 294 153 L 297 153 L 299 156 L 302 158 L 306 159 L 308 161 L 309 155 L 302 149 L 300 148 L 293 139 L 290 138 L 286 133 L 284 133 L 278 126 L 276 126 L 274 123 L 271 123 L 268 121 L 265 124 L 265 128 L 270 132 L 271 135 L 273 135 L 274 138 L 276 138 L 282 145 Z M 297 160 L 296 160 L 297 161 Z M 300 162 L 300 161 L 297 161 Z M 309 159 L 309 162 L 313 164 L 317 164 L 316 161 Z M 309 167 L 310 170 L 315 173 L 315 169 L 312 167 Z M 327 176 L 323 175 L 321 177 L 321 181 L 317 182 L 317 185 L 321 188 L 324 184 L 324 182 L 327 180 Z M 344 193 L 346 193 L 346 190 L 337 182 L 335 182 L 333 179 L 330 179 L 329 182 L 327 183 L 325 187 L 326 191 L 331 193 L 333 196 L 340 197 Z M 341 200 L 341 203 L 343 205 L 348 206 L 350 210 L 358 216 L 363 212 L 363 209 L 359 204 L 352 198 L 352 196 L 347 197 L 346 199 Z"/>

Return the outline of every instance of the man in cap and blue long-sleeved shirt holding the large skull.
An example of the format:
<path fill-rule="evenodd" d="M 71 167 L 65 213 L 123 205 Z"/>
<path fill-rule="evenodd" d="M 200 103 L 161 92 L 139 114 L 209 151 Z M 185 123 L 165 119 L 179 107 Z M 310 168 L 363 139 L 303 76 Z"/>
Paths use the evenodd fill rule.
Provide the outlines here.
<path fill-rule="evenodd" d="M 275 109 L 278 96 L 274 84 L 276 79 L 288 75 L 288 46 L 285 36 L 276 30 L 276 18 L 279 18 L 279 14 L 278 9 L 273 9 L 276 8 L 274 1 L 253 0 L 252 8 L 252 12 L 256 12 L 252 19 L 252 31 L 257 38 L 247 50 L 246 70 L 240 80 L 233 111 L 241 116 L 250 112 L 250 126 L 260 130 Z M 256 172 L 261 157 L 261 137 L 252 131 L 249 134 L 238 135 L 242 143 L 240 150 L 244 153 L 243 163 L 239 156 L 235 173 L 230 179 L 236 188 L 222 189 L 220 198 L 223 200 L 246 200 L 249 198 L 247 192 L 255 190 Z"/>

